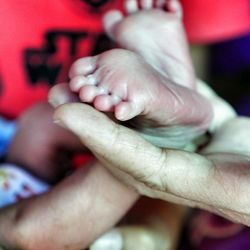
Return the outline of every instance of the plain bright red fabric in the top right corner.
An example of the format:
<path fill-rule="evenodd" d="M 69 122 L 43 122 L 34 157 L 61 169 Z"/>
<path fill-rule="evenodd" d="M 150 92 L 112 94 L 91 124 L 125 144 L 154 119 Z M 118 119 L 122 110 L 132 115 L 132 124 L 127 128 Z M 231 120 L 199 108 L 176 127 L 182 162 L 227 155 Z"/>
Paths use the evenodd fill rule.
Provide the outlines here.
<path fill-rule="evenodd" d="M 189 41 L 219 42 L 250 32 L 250 0 L 181 0 Z"/>

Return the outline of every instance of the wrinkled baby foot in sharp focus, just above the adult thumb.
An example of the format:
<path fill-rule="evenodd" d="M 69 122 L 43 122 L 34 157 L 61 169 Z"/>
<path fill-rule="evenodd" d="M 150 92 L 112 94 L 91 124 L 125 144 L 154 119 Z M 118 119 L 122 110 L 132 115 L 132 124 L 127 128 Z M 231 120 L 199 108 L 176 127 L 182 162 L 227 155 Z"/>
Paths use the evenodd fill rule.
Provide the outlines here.
<path fill-rule="evenodd" d="M 70 88 L 82 102 L 114 112 L 120 121 L 138 116 L 133 125 L 145 137 L 152 132 L 160 140 L 168 136 L 183 142 L 183 133 L 189 140 L 211 118 L 206 109 L 210 106 L 201 96 L 172 83 L 132 51 L 114 49 L 79 59 L 72 65 L 70 78 Z M 197 109 L 198 105 L 205 108 Z"/>

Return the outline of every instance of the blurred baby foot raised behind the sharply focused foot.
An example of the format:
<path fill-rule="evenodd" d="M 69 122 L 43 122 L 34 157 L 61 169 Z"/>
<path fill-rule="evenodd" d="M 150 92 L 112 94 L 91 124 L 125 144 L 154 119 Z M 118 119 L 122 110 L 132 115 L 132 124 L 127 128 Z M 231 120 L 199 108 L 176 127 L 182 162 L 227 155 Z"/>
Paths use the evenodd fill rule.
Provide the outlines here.
<path fill-rule="evenodd" d="M 140 4 L 140 6 L 139 6 Z M 107 34 L 122 48 L 141 55 L 173 82 L 194 88 L 195 74 L 178 0 L 126 0 L 126 16 L 113 10 L 104 16 Z"/>

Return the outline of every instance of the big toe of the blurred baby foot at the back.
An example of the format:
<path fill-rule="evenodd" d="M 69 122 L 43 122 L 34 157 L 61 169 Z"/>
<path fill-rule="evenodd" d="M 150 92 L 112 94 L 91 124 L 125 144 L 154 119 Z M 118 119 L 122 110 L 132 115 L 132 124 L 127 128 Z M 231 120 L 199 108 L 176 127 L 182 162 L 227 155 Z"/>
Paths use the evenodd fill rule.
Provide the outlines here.
<path fill-rule="evenodd" d="M 118 10 L 109 11 L 104 15 L 103 26 L 110 38 L 115 38 L 115 28 L 123 18 L 123 14 Z"/>

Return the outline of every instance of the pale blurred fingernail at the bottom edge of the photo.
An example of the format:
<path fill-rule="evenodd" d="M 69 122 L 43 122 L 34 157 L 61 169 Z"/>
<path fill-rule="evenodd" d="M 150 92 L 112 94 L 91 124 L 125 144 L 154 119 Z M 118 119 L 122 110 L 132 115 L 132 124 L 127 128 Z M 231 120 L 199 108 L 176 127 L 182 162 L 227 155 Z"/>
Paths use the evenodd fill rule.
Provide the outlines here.
<path fill-rule="evenodd" d="M 122 248 L 123 239 L 116 229 L 105 233 L 90 246 L 90 250 L 122 250 Z"/>

